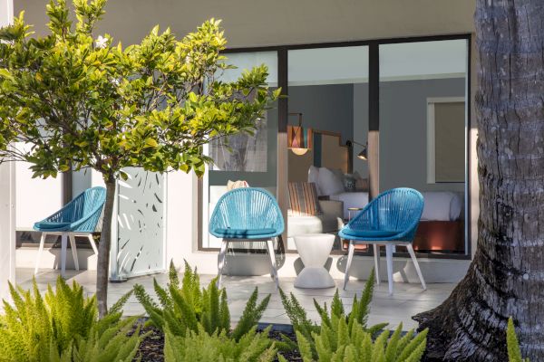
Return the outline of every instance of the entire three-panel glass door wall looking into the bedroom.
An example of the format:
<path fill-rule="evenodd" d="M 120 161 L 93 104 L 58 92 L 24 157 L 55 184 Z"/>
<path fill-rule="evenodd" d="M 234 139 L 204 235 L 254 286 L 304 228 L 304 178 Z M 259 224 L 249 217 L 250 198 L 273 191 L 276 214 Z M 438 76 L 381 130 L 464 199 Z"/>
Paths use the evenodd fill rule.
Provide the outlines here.
<path fill-rule="evenodd" d="M 224 80 L 265 63 L 287 99 L 255 136 L 208 146 L 215 165 L 200 187 L 200 248 L 219 247 L 208 221 L 229 181 L 281 194 L 287 252 L 296 252 L 296 235 L 335 234 L 378 192 L 404 186 L 425 199 L 414 249 L 470 257 L 469 50 L 470 36 L 460 35 L 228 53 L 238 69 Z M 241 249 L 252 248 L 260 246 Z M 336 236 L 334 252 L 344 251 Z"/>

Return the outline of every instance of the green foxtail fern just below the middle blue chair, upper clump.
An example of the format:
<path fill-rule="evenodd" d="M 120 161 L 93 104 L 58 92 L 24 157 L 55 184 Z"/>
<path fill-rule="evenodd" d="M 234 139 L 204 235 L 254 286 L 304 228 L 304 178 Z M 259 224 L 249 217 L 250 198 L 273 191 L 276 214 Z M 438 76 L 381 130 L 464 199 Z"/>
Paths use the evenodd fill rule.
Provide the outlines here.
<path fill-rule="evenodd" d="M 178 271 L 170 262 L 169 279 L 167 288 L 153 281 L 159 303 L 152 300 L 141 285 L 134 286 L 134 294 L 149 314 L 151 323 L 162 331 L 165 331 L 168 324 L 174 336 L 184 337 L 188 330 L 197 333 L 203 330 L 209 335 L 225 332 L 238 341 L 257 325 L 270 300 L 268 295 L 257 304 L 258 291 L 255 288 L 237 327 L 231 331 L 227 291 L 219 290 L 215 279 L 209 283 L 208 288 L 200 289 L 197 269 L 192 271 L 187 262 L 181 282 Z"/>

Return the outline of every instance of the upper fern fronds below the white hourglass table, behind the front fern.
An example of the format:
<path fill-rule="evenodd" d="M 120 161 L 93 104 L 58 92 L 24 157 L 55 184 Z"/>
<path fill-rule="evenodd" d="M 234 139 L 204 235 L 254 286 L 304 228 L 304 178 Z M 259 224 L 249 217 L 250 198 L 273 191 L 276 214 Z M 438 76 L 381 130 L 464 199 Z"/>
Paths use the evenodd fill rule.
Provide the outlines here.
<path fill-rule="evenodd" d="M 370 302 L 372 301 L 372 294 L 374 291 L 374 270 L 371 272 L 368 281 L 364 285 L 363 294 L 361 299 L 358 300 L 357 296 L 354 296 L 353 307 L 351 312 L 346 316 L 344 305 L 338 290 L 335 291 L 335 296 L 331 302 L 330 313 L 327 310 L 326 303 L 323 307 L 314 300 L 314 305 L 316 310 L 319 313 L 321 318 L 321 327 L 318 326 L 315 322 L 307 318 L 306 310 L 300 305 L 298 300 L 296 300 L 293 293 L 289 297 L 285 294 L 284 291 L 280 290 L 281 301 L 285 310 L 287 311 L 287 316 L 291 320 L 293 329 L 295 329 L 297 335 L 300 334 L 306 339 L 309 343 L 310 349 L 314 357 L 317 356 L 316 343 L 314 340 L 314 335 L 318 334 L 320 330 L 325 325 L 328 329 L 333 329 L 338 319 L 345 319 L 347 323 L 348 332 L 351 335 L 352 330 L 354 329 L 355 324 L 361 327 L 364 331 L 367 331 L 371 336 L 374 336 L 385 326 L 387 323 L 377 324 L 370 328 L 367 328 L 366 324 L 368 321 L 368 313 L 370 311 Z M 296 348 L 296 344 L 292 342 L 289 338 L 283 337 L 284 343 L 286 343 L 291 348 Z"/>

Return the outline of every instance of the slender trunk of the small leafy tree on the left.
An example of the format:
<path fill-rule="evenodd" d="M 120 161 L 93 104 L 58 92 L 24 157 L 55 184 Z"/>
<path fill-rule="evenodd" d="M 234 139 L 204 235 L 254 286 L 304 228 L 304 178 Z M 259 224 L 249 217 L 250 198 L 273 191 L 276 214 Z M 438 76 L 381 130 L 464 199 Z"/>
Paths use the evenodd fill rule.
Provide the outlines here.
<path fill-rule="evenodd" d="M 112 241 L 113 202 L 115 201 L 115 180 L 106 181 L 106 204 L 102 218 L 102 233 L 98 245 L 96 265 L 96 300 L 98 313 L 103 318 L 108 313 L 108 278 L 110 273 L 110 246 Z"/>

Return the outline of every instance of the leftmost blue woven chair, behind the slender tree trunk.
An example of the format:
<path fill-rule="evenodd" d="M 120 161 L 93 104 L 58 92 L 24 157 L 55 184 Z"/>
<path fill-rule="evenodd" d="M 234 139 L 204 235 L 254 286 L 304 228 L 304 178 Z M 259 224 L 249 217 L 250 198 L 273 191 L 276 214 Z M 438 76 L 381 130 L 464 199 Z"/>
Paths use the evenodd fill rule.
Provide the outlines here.
<path fill-rule="evenodd" d="M 92 251 L 95 254 L 98 253 L 96 244 L 92 239 L 92 233 L 96 230 L 96 225 L 100 221 L 105 201 L 106 189 L 92 187 L 64 205 L 61 210 L 34 224 L 34 230 L 42 232 L 34 274 L 38 272 L 40 257 L 44 251 L 45 237 L 47 235 L 61 235 L 61 270 L 63 275 L 66 270 L 66 243 L 68 237 L 70 238 L 75 270 L 79 271 L 75 236 L 86 236 L 91 243 Z"/>

